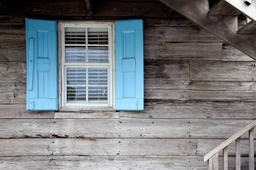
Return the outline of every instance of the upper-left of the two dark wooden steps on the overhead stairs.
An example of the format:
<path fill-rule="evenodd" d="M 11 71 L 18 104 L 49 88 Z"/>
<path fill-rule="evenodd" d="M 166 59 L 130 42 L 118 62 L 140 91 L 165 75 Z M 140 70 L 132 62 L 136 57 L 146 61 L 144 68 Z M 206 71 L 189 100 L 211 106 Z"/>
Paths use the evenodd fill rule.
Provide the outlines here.
<path fill-rule="evenodd" d="M 235 8 L 230 7 L 223 0 L 216 2 L 212 8 L 210 8 L 209 15 L 227 15 L 227 16 L 238 16 L 240 14 Z"/>

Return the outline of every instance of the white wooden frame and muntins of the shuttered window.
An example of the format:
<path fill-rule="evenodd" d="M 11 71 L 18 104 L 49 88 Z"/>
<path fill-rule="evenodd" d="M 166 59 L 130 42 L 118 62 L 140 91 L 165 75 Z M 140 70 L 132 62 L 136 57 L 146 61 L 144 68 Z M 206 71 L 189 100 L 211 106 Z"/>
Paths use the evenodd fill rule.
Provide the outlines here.
<path fill-rule="evenodd" d="M 104 109 L 104 108 L 113 108 L 113 94 L 114 94 L 114 40 L 113 40 L 113 22 L 59 22 L 59 106 L 61 109 Z M 90 63 L 90 62 L 65 62 L 65 28 L 84 28 L 84 27 L 93 27 L 93 28 L 108 28 L 108 63 Z M 87 37 L 87 31 L 86 31 Z M 76 45 L 79 46 L 79 45 Z M 83 44 L 83 46 L 85 46 Z M 87 46 L 90 45 L 86 45 Z M 106 45 L 91 45 L 91 46 L 106 46 Z M 88 55 L 88 54 L 86 54 Z M 99 102 L 67 102 L 67 84 L 66 84 L 66 70 L 67 68 L 87 68 L 86 74 L 88 75 L 88 68 L 107 68 L 108 69 L 108 103 Z M 87 79 L 88 81 L 88 79 Z M 88 88 L 86 90 L 86 95 L 88 95 Z M 87 98 L 88 100 L 88 98 Z"/>

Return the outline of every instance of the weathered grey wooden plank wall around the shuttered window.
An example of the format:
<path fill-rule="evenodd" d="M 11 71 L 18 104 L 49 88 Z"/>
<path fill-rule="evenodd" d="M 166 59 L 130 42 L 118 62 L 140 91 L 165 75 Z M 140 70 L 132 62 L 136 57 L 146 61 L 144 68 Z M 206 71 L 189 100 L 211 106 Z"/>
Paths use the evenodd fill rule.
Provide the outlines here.
<path fill-rule="evenodd" d="M 144 18 L 144 48 L 145 111 L 30 112 L 24 17 L 1 15 L 0 169 L 206 170 L 256 119 L 256 62 L 180 15 Z"/>

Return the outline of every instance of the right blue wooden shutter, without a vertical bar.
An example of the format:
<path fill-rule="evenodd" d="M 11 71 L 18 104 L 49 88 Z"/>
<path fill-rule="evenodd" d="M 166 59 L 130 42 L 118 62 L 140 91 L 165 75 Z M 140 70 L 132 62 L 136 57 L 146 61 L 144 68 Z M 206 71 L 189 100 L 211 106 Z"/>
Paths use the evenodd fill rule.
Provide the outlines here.
<path fill-rule="evenodd" d="M 143 20 L 115 22 L 116 110 L 141 111 L 143 89 Z"/>

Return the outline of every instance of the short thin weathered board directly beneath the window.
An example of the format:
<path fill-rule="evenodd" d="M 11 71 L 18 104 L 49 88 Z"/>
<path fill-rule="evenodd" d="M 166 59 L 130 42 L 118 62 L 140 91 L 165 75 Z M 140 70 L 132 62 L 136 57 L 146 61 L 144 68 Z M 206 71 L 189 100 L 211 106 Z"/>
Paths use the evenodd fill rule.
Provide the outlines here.
<path fill-rule="evenodd" d="M 119 118 L 119 112 L 99 112 L 79 113 L 79 112 L 55 112 L 54 118 L 58 119 L 102 119 L 102 118 Z"/>

